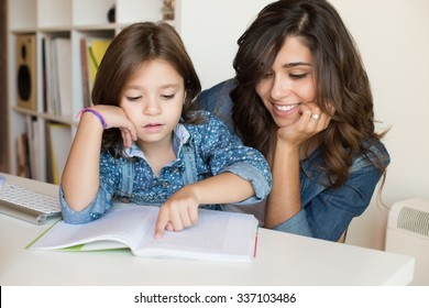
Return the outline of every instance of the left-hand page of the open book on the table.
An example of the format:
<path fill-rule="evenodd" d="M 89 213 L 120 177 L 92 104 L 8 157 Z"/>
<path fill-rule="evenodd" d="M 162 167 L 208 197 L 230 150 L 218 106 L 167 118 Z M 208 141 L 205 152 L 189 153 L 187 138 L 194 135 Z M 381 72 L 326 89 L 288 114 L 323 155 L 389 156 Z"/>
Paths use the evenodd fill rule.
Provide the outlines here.
<path fill-rule="evenodd" d="M 132 249 L 147 234 L 148 228 L 156 220 L 157 212 L 156 207 L 130 205 L 130 207 L 113 209 L 100 219 L 85 224 L 68 224 L 61 221 L 30 249 L 65 249 L 95 241 L 118 241 Z M 85 250 L 91 249 L 87 245 Z"/>

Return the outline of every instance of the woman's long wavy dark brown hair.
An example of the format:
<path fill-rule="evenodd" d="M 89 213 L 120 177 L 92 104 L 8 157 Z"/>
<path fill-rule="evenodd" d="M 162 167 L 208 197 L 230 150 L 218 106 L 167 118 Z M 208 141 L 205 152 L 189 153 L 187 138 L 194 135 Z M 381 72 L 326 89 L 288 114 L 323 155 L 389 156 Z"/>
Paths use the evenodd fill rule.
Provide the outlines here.
<path fill-rule="evenodd" d="M 265 156 L 274 120 L 255 91 L 287 37 L 297 37 L 314 57 L 316 98 L 320 109 L 336 113 L 321 132 L 320 150 L 330 186 L 346 180 L 354 155 L 366 155 L 384 133 L 374 128 L 370 81 L 355 43 L 336 9 L 323 0 L 279 0 L 266 6 L 239 38 L 234 58 L 238 86 L 232 117 L 244 144 Z M 382 172 L 383 160 L 373 162 Z"/>

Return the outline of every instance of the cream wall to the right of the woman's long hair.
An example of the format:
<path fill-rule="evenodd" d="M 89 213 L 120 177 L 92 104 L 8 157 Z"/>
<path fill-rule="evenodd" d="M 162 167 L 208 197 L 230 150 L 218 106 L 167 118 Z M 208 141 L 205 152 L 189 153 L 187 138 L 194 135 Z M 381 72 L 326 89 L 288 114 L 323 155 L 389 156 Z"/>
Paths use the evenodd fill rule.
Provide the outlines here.
<path fill-rule="evenodd" d="M 360 46 L 375 116 L 392 127 L 383 200 L 429 200 L 429 1 L 332 0 Z M 375 198 L 373 198 L 374 200 Z M 384 249 L 386 210 L 374 201 L 352 222 L 349 243 Z"/>

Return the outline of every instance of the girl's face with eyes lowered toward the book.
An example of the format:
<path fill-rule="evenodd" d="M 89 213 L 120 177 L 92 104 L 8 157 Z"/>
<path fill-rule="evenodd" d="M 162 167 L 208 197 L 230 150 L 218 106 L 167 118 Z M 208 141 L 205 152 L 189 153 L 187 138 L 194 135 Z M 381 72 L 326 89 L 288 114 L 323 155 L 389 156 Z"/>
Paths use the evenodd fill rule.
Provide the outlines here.
<path fill-rule="evenodd" d="M 120 107 L 135 125 L 138 144 L 172 142 L 186 91 L 183 77 L 167 62 L 144 63 L 127 85 Z"/>

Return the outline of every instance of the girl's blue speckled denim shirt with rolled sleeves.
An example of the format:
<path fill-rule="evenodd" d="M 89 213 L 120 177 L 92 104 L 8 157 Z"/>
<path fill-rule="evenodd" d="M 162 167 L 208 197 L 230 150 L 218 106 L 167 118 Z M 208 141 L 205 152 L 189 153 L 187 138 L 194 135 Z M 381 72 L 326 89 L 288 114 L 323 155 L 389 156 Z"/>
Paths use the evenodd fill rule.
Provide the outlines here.
<path fill-rule="evenodd" d="M 187 184 L 221 173 L 233 173 L 253 185 L 255 195 L 239 202 L 251 205 L 266 198 L 272 185 L 270 166 L 264 156 L 244 146 L 239 138 L 217 118 L 202 112 L 201 124 L 178 124 L 174 131 L 173 148 L 177 160 L 164 166 L 156 176 L 144 153 L 133 144 L 125 150 L 129 158 L 114 158 L 106 151 L 100 155 L 100 185 L 92 202 L 75 211 L 64 198 L 59 200 L 64 221 L 85 223 L 105 215 L 116 198 L 140 205 L 161 206 Z M 218 205 L 206 208 L 220 209 Z"/>

